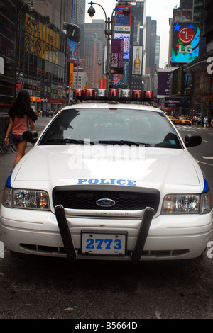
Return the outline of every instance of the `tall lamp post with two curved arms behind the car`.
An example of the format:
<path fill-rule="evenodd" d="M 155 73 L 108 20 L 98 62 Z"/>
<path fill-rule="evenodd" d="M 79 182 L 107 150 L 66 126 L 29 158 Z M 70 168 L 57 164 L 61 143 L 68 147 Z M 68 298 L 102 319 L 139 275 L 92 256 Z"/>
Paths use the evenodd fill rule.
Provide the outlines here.
<path fill-rule="evenodd" d="M 110 74 L 110 68 L 109 68 L 109 60 L 110 60 L 110 40 L 111 40 L 111 35 L 112 35 L 112 29 L 111 29 L 111 24 L 112 24 L 112 16 L 114 14 L 114 11 L 116 10 L 117 7 L 119 6 L 124 6 L 124 9 L 123 9 L 123 14 L 124 16 L 129 16 L 130 14 L 130 9 L 129 9 L 129 4 L 127 1 L 124 1 L 124 2 L 119 2 L 119 4 L 114 8 L 114 10 L 112 11 L 111 13 L 111 19 L 108 17 L 107 18 L 107 14 L 106 14 L 106 11 L 104 10 L 104 8 L 102 7 L 102 5 L 100 4 L 97 4 L 96 2 L 89 2 L 88 4 L 90 4 L 90 7 L 87 11 L 87 13 L 89 14 L 89 16 L 92 18 L 94 16 L 94 13 L 95 13 L 95 10 L 94 10 L 94 7 L 93 5 L 97 5 L 99 7 L 102 8 L 102 10 L 104 11 L 104 16 L 105 16 L 105 25 L 106 25 L 106 28 L 105 28 L 105 35 L 107 36 L 107 70 L 106 70 L 106 76 L 107 76 L 107 94 L 109 92 L 109 74 Z"/>

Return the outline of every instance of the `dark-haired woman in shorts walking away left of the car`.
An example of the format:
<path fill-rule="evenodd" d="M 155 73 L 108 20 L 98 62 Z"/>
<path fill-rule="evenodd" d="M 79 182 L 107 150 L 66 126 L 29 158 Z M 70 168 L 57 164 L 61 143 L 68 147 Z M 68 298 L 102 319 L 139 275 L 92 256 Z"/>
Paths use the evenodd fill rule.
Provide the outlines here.
<path fill-rule="evenodd" d="M 31 108 L 31 98 L 27 91 L 20 91 L 16 101 L 9 111 L 9 125 L 6 130 L 4 143 L 9 144 L 9 132 L 11 132 L 13 143 L 16 145 L 16 159 L 14 166 L 24 156 L 27 142 L 23 140 L 23 132 L 28 130 L 28 123 L 31 130 L 35 130 L 34 122 L 37 120 L 33 108 Z"/>

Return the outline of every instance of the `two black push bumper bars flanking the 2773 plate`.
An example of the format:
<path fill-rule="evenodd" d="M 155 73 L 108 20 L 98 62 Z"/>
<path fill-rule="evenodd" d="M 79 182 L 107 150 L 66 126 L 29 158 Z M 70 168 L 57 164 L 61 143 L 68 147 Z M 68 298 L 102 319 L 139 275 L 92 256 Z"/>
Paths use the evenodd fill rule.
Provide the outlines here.
<path fill-rule="evenodd" d="M 72 242 L 72 236 L 70 234 L 69 226 L 65 216 L 65 210 L 62 205 L 55 206 L 55 215 L 58 222 L 60 235 L 62 237 L 62 242 L 65 247 L 65 252 L 67 254 L 67 259 L 68 261 L 75 261 L 75 259 L 77 259 L 77 252 L 75 251 L 75 247 Z M 131 254 L 131 261 L 135 264 L 138 263 L 141 259 L 143 247 L 146 243 L 146 238 L 148 236 L 148 231 L 151 226 L 153 215 L 153 208 L 147 207 L 144 210 L 141 226 L 138 230 L 136 244 Z"/>

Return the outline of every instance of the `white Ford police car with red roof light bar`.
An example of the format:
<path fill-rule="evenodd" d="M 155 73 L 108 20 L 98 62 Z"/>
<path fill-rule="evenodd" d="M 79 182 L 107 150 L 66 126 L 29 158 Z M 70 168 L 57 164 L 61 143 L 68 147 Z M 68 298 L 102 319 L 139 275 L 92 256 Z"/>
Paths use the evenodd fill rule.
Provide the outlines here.
<path fill-rule="evenodd" d="M 6 181 L 4 244 L 76 259 L 192 259 L 212 231 L 207 179 L 151 92 L 76 90 Z M 95 101 L 90 101 L 96 98 Z M 119 98 L 119 100 L 118 100 Z"/>

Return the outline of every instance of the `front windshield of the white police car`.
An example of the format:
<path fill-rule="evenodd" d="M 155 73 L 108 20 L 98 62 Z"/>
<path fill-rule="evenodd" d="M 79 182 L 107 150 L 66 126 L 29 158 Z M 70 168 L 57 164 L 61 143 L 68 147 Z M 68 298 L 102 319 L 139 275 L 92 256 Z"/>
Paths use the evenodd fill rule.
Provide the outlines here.
<path fill-rule="evenodd" d="M 62 111 L 44 132 L 39 145 L 84 143 L 182 148 L 163 113 L 101 107 Z"/>

